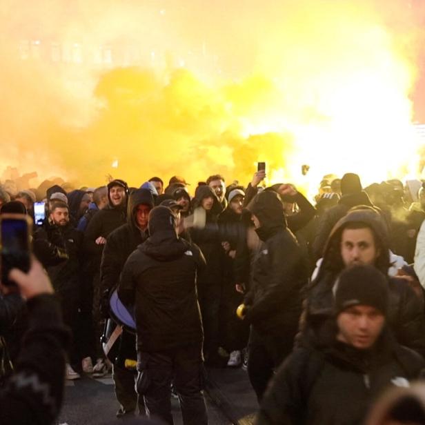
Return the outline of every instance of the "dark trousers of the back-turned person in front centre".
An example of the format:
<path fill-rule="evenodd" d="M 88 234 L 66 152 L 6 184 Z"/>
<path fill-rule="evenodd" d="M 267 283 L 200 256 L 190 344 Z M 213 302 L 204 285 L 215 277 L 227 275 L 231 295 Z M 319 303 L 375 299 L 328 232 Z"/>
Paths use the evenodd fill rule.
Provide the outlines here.
<path fill-rule="evenodd" d="M 146 369 L 150 384 L 144 393 L 146 412 L 167 424 L 174 424 L 171 414 L 171 382 L 179 395 L 184 425 L 207 425 L 208 417 L 202 388 L 204 364 L 201 345 L 174 348 L 148 356 Z M 139 357 L 138 355 L 138 357 Z M 141 369 L 140 363 L 138 364 Z"/>

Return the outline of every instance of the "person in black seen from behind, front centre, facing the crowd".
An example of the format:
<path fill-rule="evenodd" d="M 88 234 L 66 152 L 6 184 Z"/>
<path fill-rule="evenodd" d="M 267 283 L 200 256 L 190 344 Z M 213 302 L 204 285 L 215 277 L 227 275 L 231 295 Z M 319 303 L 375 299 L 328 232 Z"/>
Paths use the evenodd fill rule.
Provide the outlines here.
<path fill-rule="evenodd" d="M 195 244 L 178 237 L 170 208 L 153 208 L 148 229 L 149 238 L 128 257 L 118 288 L 123 304 L 135 307 L 137 391 L 149 415 L 172 425 L 173 381 L 184 425 L 206 425 L 196 286 L 205 259 Z"/>

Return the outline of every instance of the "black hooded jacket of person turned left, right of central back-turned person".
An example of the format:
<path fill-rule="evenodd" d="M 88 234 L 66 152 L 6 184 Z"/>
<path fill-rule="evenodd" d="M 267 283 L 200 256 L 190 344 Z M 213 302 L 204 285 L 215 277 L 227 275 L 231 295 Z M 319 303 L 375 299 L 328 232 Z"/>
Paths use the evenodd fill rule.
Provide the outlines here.
<path fill-rule="evenodd" d="M 246 320 L 261 333 L 295 332 L 302 310 L 302 288 L 307 284 L 306 259 L 297 239 L 286 228 L 284 207 L 273 190 L 256 195 L 248 206 L 260 222 L 264 241 L 253 266 L 253 288 L 246 295 Z"/>

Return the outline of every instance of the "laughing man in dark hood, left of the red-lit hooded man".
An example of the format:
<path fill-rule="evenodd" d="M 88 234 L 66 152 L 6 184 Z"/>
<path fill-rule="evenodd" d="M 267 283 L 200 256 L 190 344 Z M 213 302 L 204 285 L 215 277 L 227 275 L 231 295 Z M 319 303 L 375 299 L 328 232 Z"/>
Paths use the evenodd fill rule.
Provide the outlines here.
<path fill-rule="evenodd" d="M 99 210 L 88 223 L 84 232 L 84 255 L 86 264 L 86 288 L 88 297 L 92 296 L 92 308 L 94 317 L 100 306 L 100 263 L 103 253 L 103 247 L 106 244 L 106 238 L 116 228 L 126 223 L 128 186 L 125 181 L 116 179 L 110 181 L 108 188 L 108 205 Z M 91 295 L 92 294 L 92 295 Z M 95 324 L 95 328 L 99 326 Z M 92 348 L 90 356 L 96 356 L 97 362 L 92 366 L 91 357 L 86 357 L 85 371 L 93 372 L 94 377 L 102 377 L 107 373 L 106 363 L 103 361 L 101 348 L 98 342 L 95 342 L 97 348 Z"/>

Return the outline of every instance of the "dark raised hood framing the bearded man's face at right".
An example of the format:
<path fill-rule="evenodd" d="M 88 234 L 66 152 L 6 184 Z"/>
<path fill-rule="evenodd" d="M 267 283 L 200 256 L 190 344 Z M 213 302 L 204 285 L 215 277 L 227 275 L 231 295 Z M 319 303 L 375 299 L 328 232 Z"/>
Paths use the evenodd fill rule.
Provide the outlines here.
<path fill-rule="evenodd" d="M 375 266 L 379 268 L 384 275 L 388 273 L 388 267 L 390 266 L 388 233 L 381 215 L 379 215 L 377 211 L 369 208 L 368 210 L 350 211 L 335 224 L 326 242 L 322 265 L 320 266 L 316 280 L 322 277 L 325 270 L 332 270 L 333 272 L 339 273 L 339 271 L 344 268 L 340 246 L 342 231 L 348 224 L 358 222 L 366 224 L 366 226 L 371 228 L 375 233 L 378 244 L 377 248 L 379 249 L 379 256 Z"/>

